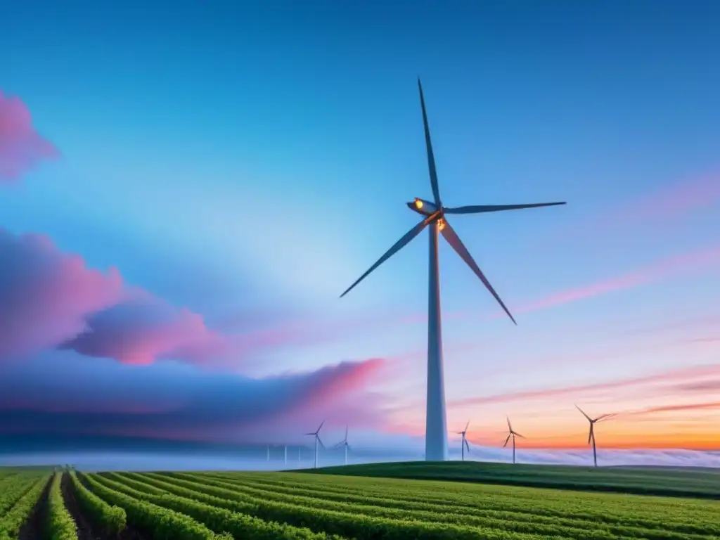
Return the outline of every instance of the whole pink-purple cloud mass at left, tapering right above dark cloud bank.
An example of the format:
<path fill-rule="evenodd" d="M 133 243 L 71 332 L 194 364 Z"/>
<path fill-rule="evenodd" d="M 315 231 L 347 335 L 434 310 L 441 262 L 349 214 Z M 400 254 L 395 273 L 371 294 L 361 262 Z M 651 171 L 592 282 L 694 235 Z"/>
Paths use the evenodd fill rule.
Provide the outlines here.
<path fill-rule="evenodd" d="M 0 360 L 60 346 L 125 364 L 227 365 L 307 339 L 302 326 L 219 333 L 201 315 L 128 286 L 117 269 L 89 269 L 46 236 L 0 230 L 0 261 Z"/>

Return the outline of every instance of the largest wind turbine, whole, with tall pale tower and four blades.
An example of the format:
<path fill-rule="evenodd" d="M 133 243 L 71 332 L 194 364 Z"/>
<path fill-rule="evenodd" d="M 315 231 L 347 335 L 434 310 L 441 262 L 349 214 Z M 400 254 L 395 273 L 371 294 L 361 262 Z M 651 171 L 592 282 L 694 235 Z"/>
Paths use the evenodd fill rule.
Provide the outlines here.
<path fill-rule="evenodd" d="M 441 233 L 450 246 L 470 267 L 474 274 L 480 278 L 482 284 L 485 285 L 490 294 L 495 297 L 505 313 L 508 314 L 513 323 L 515 319 L 510 315 L 510 311 L 495 289 L 492 288 L 490 282 L 487 281 L 485 274 L 482 273 L 480 267 L 477 266 L 474 259 L 465 248 L 462 240 L 450 226 L 446 215 L 451 214 L 482 214 L 485 212 L 499 212 L 500 210 L 520 210 L 523 208 L 535 208 L 544 206 L 554 206 L 556 204 L 565 204 L 564 202 L 541 202 L 535 204 L 490 204 L 490 205 L 472 205 L 455 208 L 444 207 L 440 199 L 440 190 L 438 188 L 438 175 L 435 168 L 435 156 L 433 155 L 433 146 L 430 140 L 430 128 L 428 127 L 428 115 L 425 110 L 425 99 L 423 97 L 423 86 L 418 78 L 418 89 L 420 91 L 420 108 L 423 112 L 423 126 L 425 128 L 425 145 L 428 155 L 428 169 L 430 172 L 430 186 L 433 192 L 433 200 L 415 198 L 413 202 L 408 202 L 408 207 L 413 212 L 417 212 L 422 216 L 422 220 L 408 231 L 400 240 L 397 240 L 394 246 L 390 248 L 378 261 L 373 264 L 368 271 L 362 274 L 359 279 L 352 284 L 343 294 L 341 298 L 348 294 L 359 282 L 370 274 L 374 269 L 380 266 L 388 258 L 392 257 L 397 251 L 410 243 L 415 236 L 419 235 L 424 228 L 429 228 L 430 232 L 430 265 L 428 280 L 428 390 L 426 400 L 426 419 L 425 419 L 425 459 L 428 462 L 446 461 L 448 459 L 448 439 L 447 439 L 447 420 L 445 412 L 445 384 L 443 375 L 443 344 L 441 332 L 441 315 L 440 315 L 440 270 L 438 261 L 438 233 Z"/>

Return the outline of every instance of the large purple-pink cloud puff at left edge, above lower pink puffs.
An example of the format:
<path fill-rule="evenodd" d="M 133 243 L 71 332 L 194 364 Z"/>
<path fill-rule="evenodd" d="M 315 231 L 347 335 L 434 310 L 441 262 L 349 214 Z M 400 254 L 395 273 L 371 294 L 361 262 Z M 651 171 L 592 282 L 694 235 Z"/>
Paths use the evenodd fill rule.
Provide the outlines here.
<path fill-rule="evenodd" d="M 88 313 L 122 299 L 117 269 L 89 269 L 41 235 L 0 229 L 0 359 L 53 347 L 85 328 Z"/>

